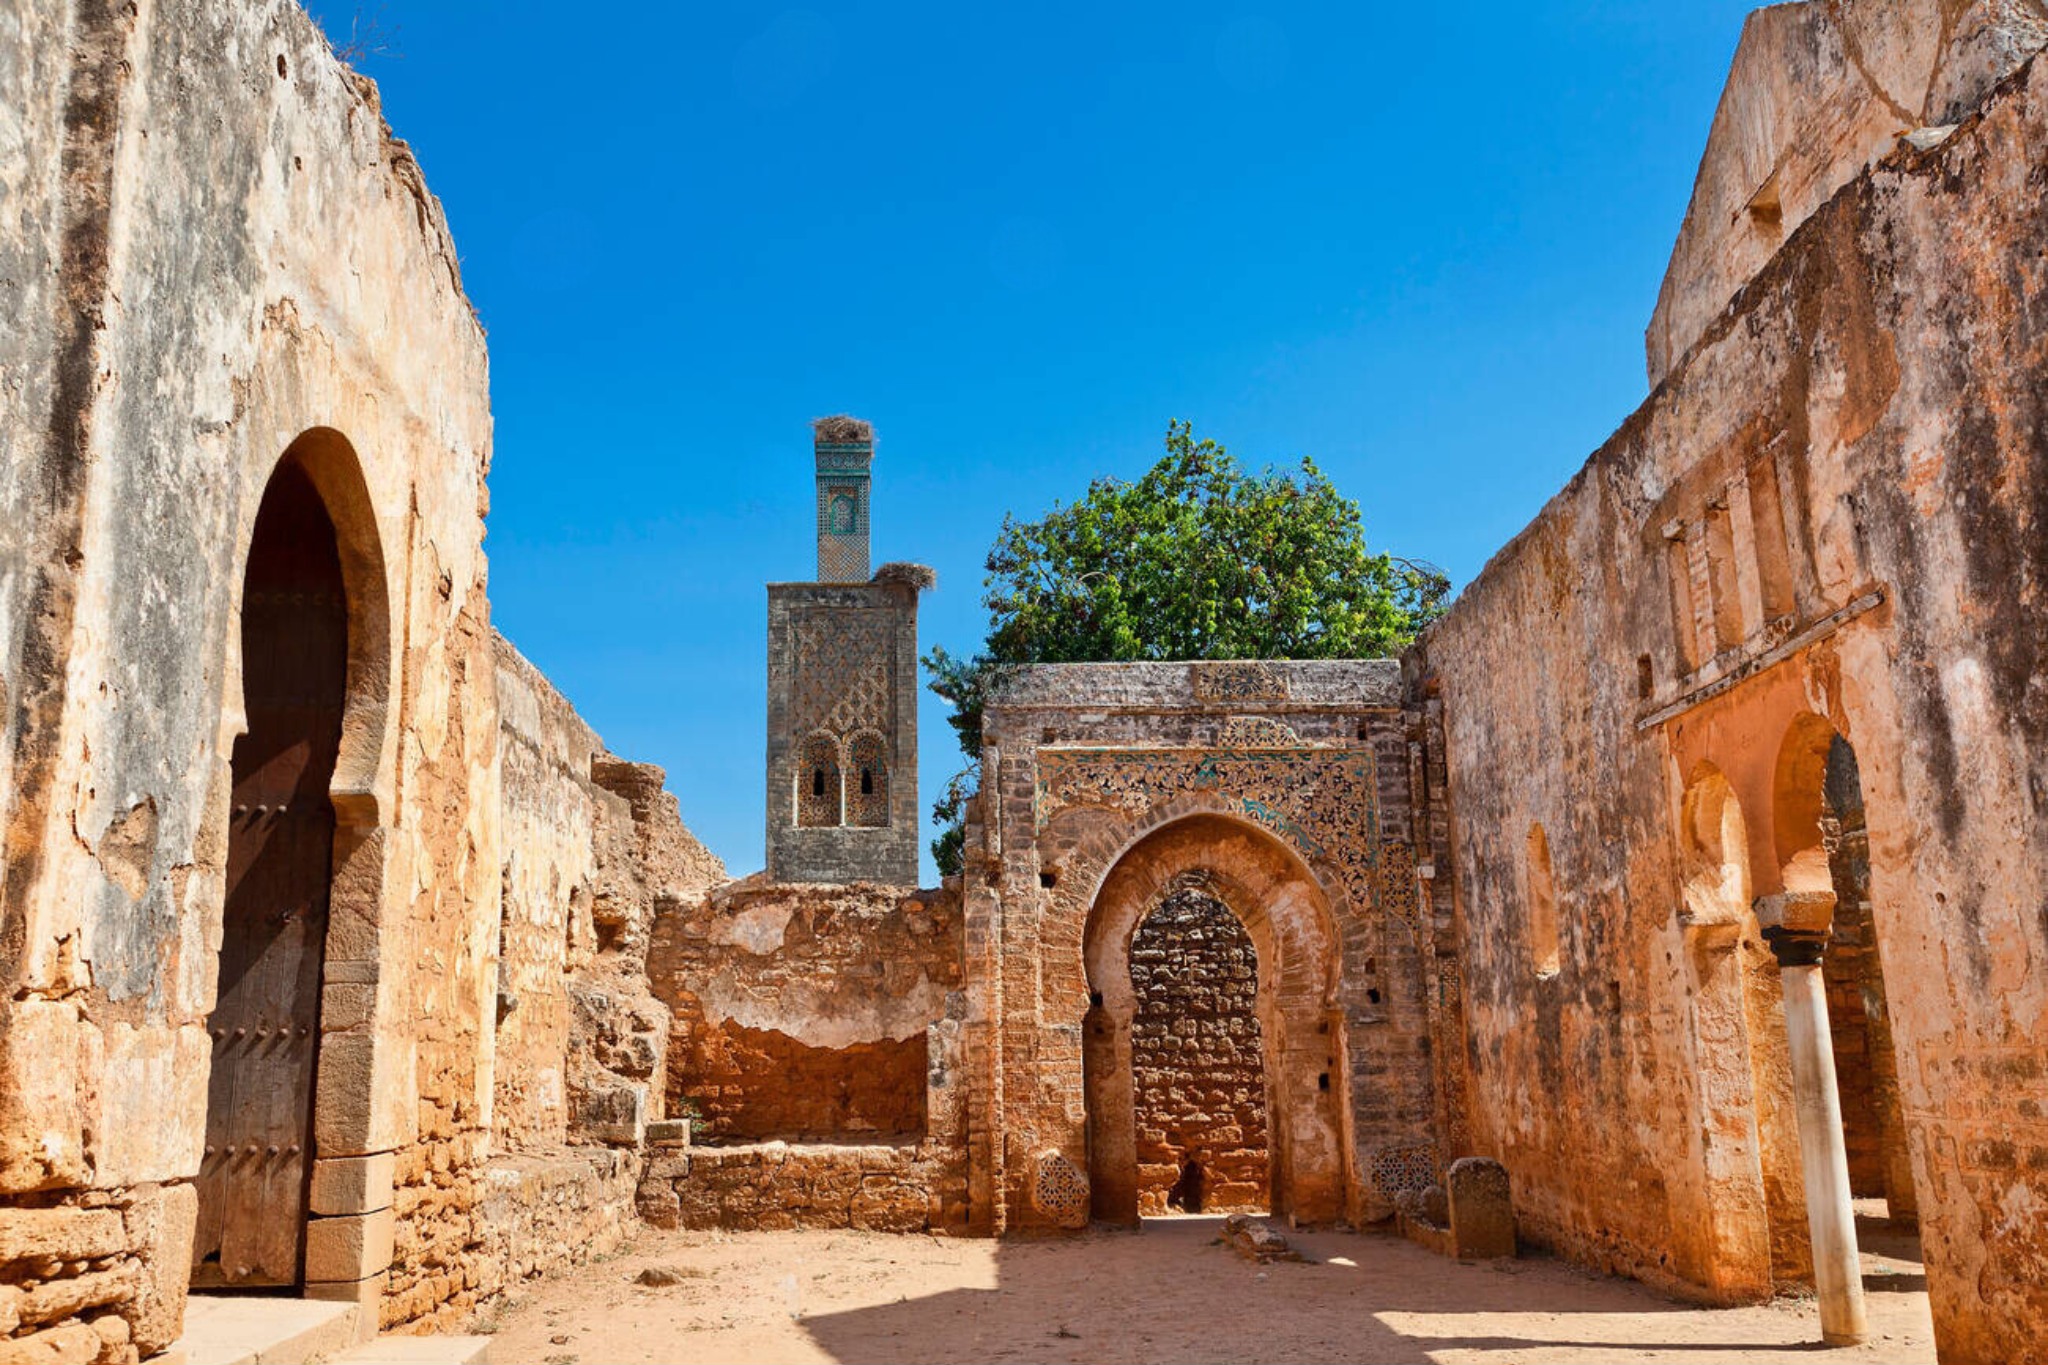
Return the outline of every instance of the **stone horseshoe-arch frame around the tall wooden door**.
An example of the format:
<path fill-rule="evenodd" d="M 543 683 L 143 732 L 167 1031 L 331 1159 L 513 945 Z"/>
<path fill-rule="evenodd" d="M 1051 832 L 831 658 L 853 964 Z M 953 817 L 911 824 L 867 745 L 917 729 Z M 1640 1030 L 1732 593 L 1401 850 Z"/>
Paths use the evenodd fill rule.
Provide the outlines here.
<path fill-rule="evenodd" d="M 403 960 L 385 933 L 389 827 L 395 810 L 397 729 L 391 700 L 399 659 L 393 647 L 393 591 L 383 534 L 362 463 L 346 436 L 309 428 L 264 471 L 236 518 L 233 610 L 221 669 L 221 733 L 207 829 L 229 821 L 229 757 L 248 729 L 242 700 L 242 593 L 256 512 L 276 469 L 307 473 L 334 522 L 348 598 L 348 669 L 342 741 L 334 763 L 334 864 L 328 939 L 322 954 L 319 1046 L 313 1062 L 313 1150 L 307 1191 L 305 1259 L 299 1293 L 362 1308 L 358 1332 L 377 1328 L 377 1304 L 393 1257 L 393 1152 L 414 1113 L 414 1052 L 403 1038 Z M 219 915 L 213 907 L 211 970 L 219 970 Z M 186 1254 L 186 1261 L 190 1252 Z"/>

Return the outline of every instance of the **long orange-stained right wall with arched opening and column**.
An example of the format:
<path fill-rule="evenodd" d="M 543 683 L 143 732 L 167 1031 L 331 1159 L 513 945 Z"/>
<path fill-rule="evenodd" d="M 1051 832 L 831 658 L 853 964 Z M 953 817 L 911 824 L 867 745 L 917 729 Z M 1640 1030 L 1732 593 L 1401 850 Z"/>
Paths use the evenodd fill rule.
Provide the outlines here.
<path fill-rule="evenodd" d="M 2036 61 L 1853 180 L 1425 641 L 1475 1148 L 1538 1240 L 1708 1297 L 1769 1293 L 1804 1222 L 1747 900 L 1817 839 L 1800 716 L 1855 747 L 1944 1361 L 2048 1359 L 2048 1222 L 2015 1214 L 2048 1205 L 2044 147 Z M 1733 847 L 1681 829 L 1714 792 Z"/>

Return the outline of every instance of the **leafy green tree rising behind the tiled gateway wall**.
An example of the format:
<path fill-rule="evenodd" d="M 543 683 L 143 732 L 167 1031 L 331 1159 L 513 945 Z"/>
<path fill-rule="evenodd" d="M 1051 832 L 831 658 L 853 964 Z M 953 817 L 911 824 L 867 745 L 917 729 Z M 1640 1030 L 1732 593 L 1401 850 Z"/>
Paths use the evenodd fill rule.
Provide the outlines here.
<path fill-rule="evenodd" d="M 1358 503 L 1315 467 L 1245 473 L 1188 422 L 1141 479 L 1096 479 L 1036 522 L 1004 518 L 983 581 L 989 634 L 934 647 L 932 692 L 952 702 L 969 772 L 932 817 L 942 872 L 961 864 L 961 810 L 981 757 L 981 712 L 1006 669 L 1118 659 L 1368 659 L 1405 649 L 1444 610 L 1450 579 L 1374 555 Z"/>

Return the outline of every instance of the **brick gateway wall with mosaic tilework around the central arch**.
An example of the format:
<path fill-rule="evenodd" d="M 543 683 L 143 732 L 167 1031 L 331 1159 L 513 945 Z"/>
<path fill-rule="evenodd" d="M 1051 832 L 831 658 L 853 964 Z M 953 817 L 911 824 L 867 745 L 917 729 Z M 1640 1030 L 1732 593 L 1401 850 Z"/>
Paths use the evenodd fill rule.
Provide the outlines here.
<path fill-rule="evenodd" d="M 983 722 L 963 876 L 977 1230 L 1071 1226 L 1034 1191 L 1090 1166 L 1094 898 L 1153 835 L 1171 843 L 1190 821 L 1221 821 L 1208 847 L 1161 857 L 1268 886 L 1231 909 L 1274 907 L 1309 956 L 1303 896 L 1335 898 L 1329 958 L 1276 982 L 1296 1040 L 1268 1031 L 1272 1066 L 1298 1076 L 1276 1083 L 1296 1099 L 1268 1124 L 1300 1152 L 1300 1191 L 1321 1209 L 1300 1214 L 1386 1218 L 1401 1189 L 1462 1154 L 1462 1056 L 1436 1042 L 1462 1033 L 1462 1005 L 1450 896 L 1434 880 L 1448 835 L 1434 726 L 1434 702 L 1409 704 L 1393 661 L 1044 665 L 1010 679 Z M 1276 849 L 1323 890 L 1260 880 Z M 1186 876 L 1171 868 L 1157 872 Z M 1288 937 L 1286 923 L 1272 933 Z"/>

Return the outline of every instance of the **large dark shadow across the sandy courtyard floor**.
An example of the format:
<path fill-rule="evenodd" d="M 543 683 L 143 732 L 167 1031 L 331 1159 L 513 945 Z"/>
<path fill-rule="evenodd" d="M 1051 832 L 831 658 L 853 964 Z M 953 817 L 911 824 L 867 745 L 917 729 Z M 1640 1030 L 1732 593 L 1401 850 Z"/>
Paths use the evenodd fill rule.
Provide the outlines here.
<path fill-rule="evenodd" d="M 1769 1361 L 1821 1351 L 1812 1302 L 1702 1310 L 1559 1261 L 1454 1263 L 1391 1236 L 1292 1234 L 1311 1265 L 1257 1267 L 1217 1242 L 1221 1220 L 1006 1242 L 993 1289 L 805 1316 L 836 1361 Z M 1886 1326 L 1915 1359 L 1913 1310 Z"/>

